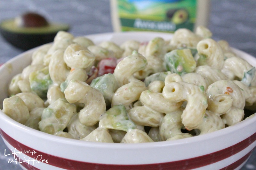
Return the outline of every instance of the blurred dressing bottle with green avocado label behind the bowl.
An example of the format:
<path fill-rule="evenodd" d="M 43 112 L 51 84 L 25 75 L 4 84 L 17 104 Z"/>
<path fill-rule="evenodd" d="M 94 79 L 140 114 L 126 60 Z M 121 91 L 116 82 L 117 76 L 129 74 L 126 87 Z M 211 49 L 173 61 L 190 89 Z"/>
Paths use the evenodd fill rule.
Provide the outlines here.
<path fill-rule="evenodd" d="M 111 0 L 114 31 L 174 32 L 207 27 L 210 0 Z"/>

